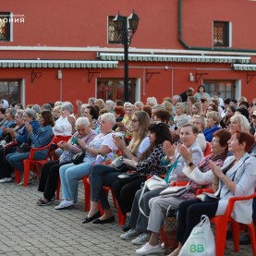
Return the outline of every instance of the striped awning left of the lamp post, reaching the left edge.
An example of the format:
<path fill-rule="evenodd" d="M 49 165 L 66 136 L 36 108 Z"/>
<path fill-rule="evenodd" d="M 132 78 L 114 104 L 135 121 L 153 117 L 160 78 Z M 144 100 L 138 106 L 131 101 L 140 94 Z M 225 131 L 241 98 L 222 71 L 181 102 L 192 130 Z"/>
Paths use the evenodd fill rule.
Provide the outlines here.
<path fill-rule="evenodd" d="M 0 60 L 0 67 L 32 67 L 32 68 L 115 68 L 118 61 L 98 60 Z"/>

